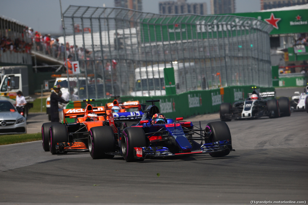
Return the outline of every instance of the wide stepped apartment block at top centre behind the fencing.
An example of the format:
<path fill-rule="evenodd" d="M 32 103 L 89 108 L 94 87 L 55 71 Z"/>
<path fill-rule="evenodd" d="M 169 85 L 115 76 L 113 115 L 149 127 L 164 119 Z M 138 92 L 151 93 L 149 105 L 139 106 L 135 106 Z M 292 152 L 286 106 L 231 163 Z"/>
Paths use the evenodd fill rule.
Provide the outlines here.
<path fill-rule="evenodd" d="M 160 14 L 207 14 L 206 3 L 186 3 L 186 0 L 159 2 Z"/>

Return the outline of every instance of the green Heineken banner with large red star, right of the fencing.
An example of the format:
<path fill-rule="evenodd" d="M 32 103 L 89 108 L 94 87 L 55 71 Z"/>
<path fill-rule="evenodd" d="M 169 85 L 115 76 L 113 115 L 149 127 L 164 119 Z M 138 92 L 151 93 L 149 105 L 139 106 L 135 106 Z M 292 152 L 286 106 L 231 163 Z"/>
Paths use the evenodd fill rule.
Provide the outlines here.
<path fill-rule="evenodd" d="M 242 17 L 253 17 L 272 25 L 273 34 L 307 33 L 308 32 L 308 10 L 288 11 L 260 11 L 250 13 L 236 13 L 233 15 Z"/>

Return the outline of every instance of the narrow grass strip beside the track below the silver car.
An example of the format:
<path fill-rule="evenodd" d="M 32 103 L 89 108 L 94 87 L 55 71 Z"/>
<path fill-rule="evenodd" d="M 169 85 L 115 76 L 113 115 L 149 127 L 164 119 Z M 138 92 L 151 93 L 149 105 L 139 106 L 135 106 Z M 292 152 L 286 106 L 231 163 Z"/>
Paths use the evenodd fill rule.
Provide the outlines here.
<path fill-rule="evenodd" d="M 35 134 L 0 135 L 0 145 L 32 142 L 42 139 L 40 132 Z"/>

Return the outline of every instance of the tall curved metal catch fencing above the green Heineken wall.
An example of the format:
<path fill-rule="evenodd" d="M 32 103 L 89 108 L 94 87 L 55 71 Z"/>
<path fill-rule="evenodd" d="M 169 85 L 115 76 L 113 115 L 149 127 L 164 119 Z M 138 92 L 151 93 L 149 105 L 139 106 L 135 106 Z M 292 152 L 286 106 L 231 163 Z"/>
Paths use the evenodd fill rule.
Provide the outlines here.
<path fill-rule="evenodd" d="M 69 6 L 63 21 L 59 42 L 81 72 L 93 76 L 86 81 L 87 98 L 164 95 L 168 67 L 174 68 L 177 94 L 272 85 L 273 27 L 255 18 Z"/>

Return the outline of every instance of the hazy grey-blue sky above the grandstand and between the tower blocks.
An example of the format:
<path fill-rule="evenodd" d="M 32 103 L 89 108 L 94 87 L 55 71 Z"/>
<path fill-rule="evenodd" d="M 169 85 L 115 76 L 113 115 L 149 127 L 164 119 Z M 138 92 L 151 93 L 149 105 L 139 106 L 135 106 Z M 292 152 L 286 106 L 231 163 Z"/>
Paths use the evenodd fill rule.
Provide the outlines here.
<path fill-rule="evenodd" d="M 144 12 L 158 14 L 158 2 L 164 0 L 143 0 Z M 210 0 L 187 0 L 188 3 L 207 3 L 210 14 Z M 236 13 L 260 10 L 260 0 L 235 0 Z M 114 7 L 114 0 L 61 0 L 62 11 L 69 5 Z M 62 33 L 59 0 L 0 0 L 0 15 L 22 22 L 42 34 Z"/>

